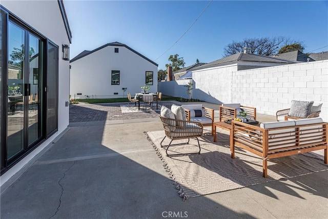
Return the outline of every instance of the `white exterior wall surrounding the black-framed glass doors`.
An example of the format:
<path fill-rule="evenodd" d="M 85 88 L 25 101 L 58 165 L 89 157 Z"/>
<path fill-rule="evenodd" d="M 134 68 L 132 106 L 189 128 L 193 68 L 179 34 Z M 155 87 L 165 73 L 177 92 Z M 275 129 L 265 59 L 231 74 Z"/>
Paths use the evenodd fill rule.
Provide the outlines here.
<path fill-rule="evenodd" d="M 22 169 L 37 153 L 42 151 L 48 144 L 51 144 L 68 127 L 69 107 L 65 107 L 65 102 L 69 100 L 69 61 L 61 59 L 61 45 L 70 45 L 70 42 L 57 1 L 1 1 L 1 5 L 36 31 L 49 38 L 58 46 L 59 52 L 58 131 L 4 173 L 1 176 L 1 185 L 3 185 L 13 174 Z"/>

